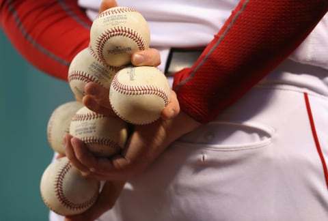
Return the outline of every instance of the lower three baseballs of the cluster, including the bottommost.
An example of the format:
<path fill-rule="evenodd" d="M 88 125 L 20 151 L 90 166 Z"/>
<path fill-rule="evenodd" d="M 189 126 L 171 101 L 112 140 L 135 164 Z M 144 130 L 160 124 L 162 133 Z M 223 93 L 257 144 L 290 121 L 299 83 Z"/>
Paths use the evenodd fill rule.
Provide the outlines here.
<path fill-rule="evenodd" d="M 128 140 L 128 123 L 117 116 L 93 112 L 81 102 L 67 102 L 53 111 L 47 126 L 51 148 L 63 158 L 55 159 L 40 181 L 42 199 L 47 207 L 62 216 L 82 213 L 98 197 L 100 182 L 83 177 L 65 157 L 64 134 L 70 133 L 85 143 L 98 157 L 120 152 Z"/>

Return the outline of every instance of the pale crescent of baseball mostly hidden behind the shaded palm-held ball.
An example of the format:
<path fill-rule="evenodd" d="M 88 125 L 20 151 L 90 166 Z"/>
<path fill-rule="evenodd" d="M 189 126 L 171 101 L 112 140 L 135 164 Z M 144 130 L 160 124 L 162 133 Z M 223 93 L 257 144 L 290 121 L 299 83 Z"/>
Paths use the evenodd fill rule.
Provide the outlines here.
<path fill-rule="evenodd" d="M 70 131 L 70 120 L 83 107 L 81 102 L 67 102 L 57 106 L 49 118 L 46 128 L 48 142 L 57 153 L 65 155 L 64 134 Z"/>

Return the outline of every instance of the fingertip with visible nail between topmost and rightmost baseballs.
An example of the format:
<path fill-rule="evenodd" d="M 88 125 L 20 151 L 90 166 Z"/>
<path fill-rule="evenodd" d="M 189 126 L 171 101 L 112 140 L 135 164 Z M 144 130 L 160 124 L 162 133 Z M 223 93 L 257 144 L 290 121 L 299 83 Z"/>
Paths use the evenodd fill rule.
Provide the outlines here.
<path fill-rule="evenodd" d="M 135 66 L 158 66 L 161 64 L 161 55 L 154 48 L 148 48 L 138 53 L 134 53 L 131 62 Z"/>

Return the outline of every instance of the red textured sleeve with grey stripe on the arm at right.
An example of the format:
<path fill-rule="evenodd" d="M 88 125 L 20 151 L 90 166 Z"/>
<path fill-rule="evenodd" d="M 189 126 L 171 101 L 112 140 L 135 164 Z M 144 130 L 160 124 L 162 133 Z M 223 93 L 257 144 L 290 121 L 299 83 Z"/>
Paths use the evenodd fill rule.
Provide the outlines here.
<path fill-rule="evenodd" d="M 243 0 L 192 68 L 174 74 L 180 106 L 207 123 L 292 53 L 327 0 Z"/>

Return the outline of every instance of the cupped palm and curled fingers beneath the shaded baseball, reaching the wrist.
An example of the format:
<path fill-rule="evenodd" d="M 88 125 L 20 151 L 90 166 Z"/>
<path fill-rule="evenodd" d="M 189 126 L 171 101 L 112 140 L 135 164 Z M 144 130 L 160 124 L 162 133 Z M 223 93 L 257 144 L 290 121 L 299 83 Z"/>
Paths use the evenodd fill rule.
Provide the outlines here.
<path fill-rule="evenodd" d="M 180 113 L 174 119 L 134 126 L 122 155 L 95 158 L 78 138 L 66 135 L 66 154 L 83 175 L 102 180 L 126 180 L 150 166 L 177 138 L 195 130 L 201 123 Z"/>

